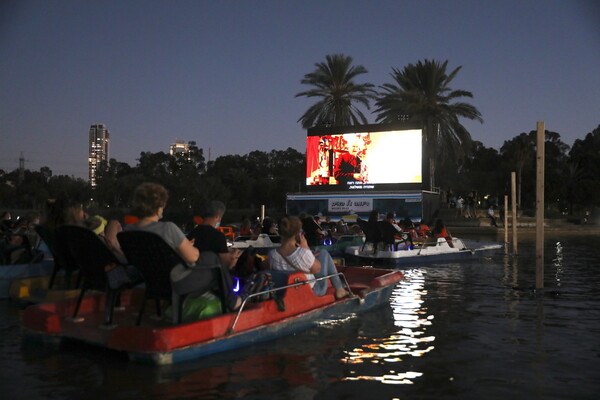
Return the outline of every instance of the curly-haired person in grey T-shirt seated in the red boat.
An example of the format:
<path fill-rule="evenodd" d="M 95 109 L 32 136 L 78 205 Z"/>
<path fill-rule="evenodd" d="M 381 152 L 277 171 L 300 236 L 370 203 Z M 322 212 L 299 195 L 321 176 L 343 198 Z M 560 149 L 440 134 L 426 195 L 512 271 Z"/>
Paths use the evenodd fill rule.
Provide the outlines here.
<path fill-rule="evenodd" d="M 179 253 L 185 262 L 193 265 L 200 258 L 200 251 L 194 247 L 194 242 L 188 240 L 183 231 L 174 223 L 159 221 L 163 216 L 168 198 L 167 190 L 162 185 L 143 183 L 138 186 L 133 193 L 133 207 L 135 215 L 140 220 L 135 224 L 128 225 L 125 230 L 143 230 L 156 233 L 173 250 Z M 226 288 L 224 296 L 227 306 L 231 310 L 237 310 L 242 304 L 242 300 L 233 293 L 231 276 L 227 268 L 221 268 L 221 271 Z"/>

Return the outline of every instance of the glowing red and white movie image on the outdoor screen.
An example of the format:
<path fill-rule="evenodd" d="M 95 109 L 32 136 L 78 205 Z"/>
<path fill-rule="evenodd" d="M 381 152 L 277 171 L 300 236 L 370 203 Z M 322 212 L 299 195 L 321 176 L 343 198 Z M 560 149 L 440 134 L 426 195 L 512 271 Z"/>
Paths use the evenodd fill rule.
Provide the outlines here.
<path fill-rule="evenodd" d="M 306 185 L 339 189 L 422 182 L 420 129 L 308 136 Z"/>

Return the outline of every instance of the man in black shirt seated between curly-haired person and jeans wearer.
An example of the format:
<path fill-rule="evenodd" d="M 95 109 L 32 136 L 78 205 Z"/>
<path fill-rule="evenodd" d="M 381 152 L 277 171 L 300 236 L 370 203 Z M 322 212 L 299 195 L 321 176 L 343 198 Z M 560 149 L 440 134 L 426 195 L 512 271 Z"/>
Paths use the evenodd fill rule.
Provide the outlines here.
<path fill-rule="evenodd" d="M 229 251 L 225 235 L 217 230 L 225 214 L 225 204 L 217 200 L 211 201 L 204 214 L 204 220 L 189 233 L 188 239 L 193 240 L 201 254 L 203 251 L 212 251 L 219 256 L 224 267 L 233 268 L 242 251 Z"/>

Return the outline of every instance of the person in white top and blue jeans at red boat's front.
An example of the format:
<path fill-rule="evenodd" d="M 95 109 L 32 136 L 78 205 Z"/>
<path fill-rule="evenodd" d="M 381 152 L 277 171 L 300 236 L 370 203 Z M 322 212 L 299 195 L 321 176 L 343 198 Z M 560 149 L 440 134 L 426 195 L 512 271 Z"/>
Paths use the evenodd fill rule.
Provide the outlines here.
<path fill-rule="evenodd" d="M 331 256 L 326 251 L 312 253 L 306 237 L 302 233 L 302 221 L 296 217 L 285 217 L 281 220 L 281 247 L 269 252 L 269 268 L 276 271 L 300 271 L 306 273 L 306 279 L 314 279 L 337 273 Z M 348 296 L 339 276 L 330 278 L 335 288 L 335 298 L 341 299 Z M 317 296 L 327 292 L 327 280 L 322 279 L 310 283 Z"/>

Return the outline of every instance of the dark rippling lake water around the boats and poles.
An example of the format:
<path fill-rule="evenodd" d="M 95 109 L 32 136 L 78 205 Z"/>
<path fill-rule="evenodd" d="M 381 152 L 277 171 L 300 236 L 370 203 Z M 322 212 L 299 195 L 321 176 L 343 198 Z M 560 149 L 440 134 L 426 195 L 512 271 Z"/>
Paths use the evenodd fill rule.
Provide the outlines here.
<path fill-rule="evenodd" d="M 535 244 L 524 237 L 518 256 L 407 269 L 389 305 L 367 315 L 166 367 L 23 342 L 22 311 L 0 301 L 1 396 L 598 399 L 599 249 L 598 235 L 547 233 L 536 292 Z"/>

